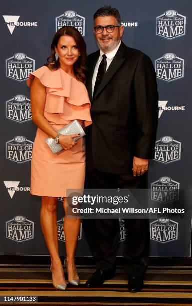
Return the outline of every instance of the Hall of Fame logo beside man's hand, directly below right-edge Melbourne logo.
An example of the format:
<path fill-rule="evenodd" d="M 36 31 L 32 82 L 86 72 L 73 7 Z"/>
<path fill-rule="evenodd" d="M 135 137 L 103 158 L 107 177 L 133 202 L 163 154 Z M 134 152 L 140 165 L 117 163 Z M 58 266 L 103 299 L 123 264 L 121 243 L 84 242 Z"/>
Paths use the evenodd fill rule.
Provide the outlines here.
<path fill-rule="evenodd" d="M 181 142 L 170 136 L 164 136 L 155 144 L 154 160 L 162 163 L 170 163 L 180 160 Z"/>

